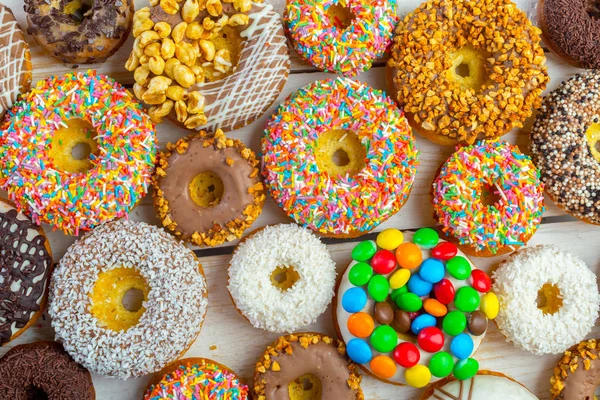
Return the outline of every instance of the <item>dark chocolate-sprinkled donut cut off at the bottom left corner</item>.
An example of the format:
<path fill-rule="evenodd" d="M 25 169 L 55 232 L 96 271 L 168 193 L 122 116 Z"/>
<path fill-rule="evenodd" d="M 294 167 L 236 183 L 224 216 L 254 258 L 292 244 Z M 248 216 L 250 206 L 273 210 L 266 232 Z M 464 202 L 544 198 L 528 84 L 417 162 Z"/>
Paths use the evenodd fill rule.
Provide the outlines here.
<path fill-rule="evenodd" d="M 95 400 L 90 372 L 56 342 L 21 344 L 0 359 L 3 399 Z"/>

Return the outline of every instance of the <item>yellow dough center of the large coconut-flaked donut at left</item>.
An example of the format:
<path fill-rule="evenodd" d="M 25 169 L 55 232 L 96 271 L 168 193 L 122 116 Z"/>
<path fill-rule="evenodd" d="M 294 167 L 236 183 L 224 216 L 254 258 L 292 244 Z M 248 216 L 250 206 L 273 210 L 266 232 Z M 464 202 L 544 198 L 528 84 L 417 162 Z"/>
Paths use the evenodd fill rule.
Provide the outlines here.
<path fill-rule="evenodd" d="M 146 280 L 134 268 L 101 272 L 90 293 L 91 313 L 105 328 L 127 330 L 144 314 L 142 302 L 148 300 L 149 291 Z"/>

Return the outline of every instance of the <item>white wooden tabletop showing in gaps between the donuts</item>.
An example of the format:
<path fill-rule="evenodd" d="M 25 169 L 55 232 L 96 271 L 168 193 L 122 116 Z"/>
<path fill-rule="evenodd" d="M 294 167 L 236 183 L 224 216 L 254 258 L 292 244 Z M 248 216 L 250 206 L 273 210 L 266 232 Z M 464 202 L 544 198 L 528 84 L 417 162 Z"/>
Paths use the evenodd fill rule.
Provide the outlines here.
<path fill-rule="evenodd" d="M 147 1 L 136 0 L 136 9 L 146 6 Z M 270 1 L 277 11 L 283 11 L 285 0 Z M 4 2 L 12 8 L 22 29 L 25 30 L 27 22 L 22 0 L 4 0 Z M 403 0 L 401 3 L 399 12 L 401 15 L 405 15 L 417 7 L 420 0 Z M 528 12 L 530 18 L 535 20 L 534 0 L 518 0 L 517 4 Z M 71 66 L 64 65 L 47 55 L 43 49 L 35 44 L 33 38 L 28 36 L 27 39 L 31 46 L 33 58 L 34 82 L 48 75 L 66 73 L 72 69 Z M 101 73 L 110 75 L 122 84 L 131 87 L 133 84 L 133 75 L 127 72 L 123 65 L 129 55 L 132 43 L 133 40 L 130 38 L 107 62 L 90 67 L 97 69 Z M 565 65 L 553 54 L 547 52 L 546 56 L 552 78 L 548 87 L 549 90 L 556 88 L 562 80 L 577 72 L 577 69 Z M 86 69 L 87 66 L 80 66 L 79 68 Z M 269 111 L 253 124 L 230 132 L 228 135 L 242 140 L 246 145 L 254 149 L 255 152 L 258 152 L 260 150 L 260 138 L 263 126 L 275 107 L 286 96 L 298 88 L 315 80 L 334 76 L 332 74 L 317 72 L 309 64 L 300 61 L 294 51 L 292 51 L 291 69 L 283 92 Z M 375 88 L 386 89 L 384 71 L 384 63 L 378 62 L 369 71 L 358 76 L 357 79 Z M 526 124 L 526 126 L 528 125 Z M 169 122 L 159 125 L 157 131 L 161 149 L 165 147 L 168 141 L 175 141 L 187 133 L 187 131 Z M 527 128 L 511 132 L 504 138 L 520 145 L 522 150 L 528 151 L 529 137 Z M 425 226 L 433 226 L 429 188 L 434 177 L 434 172 L 452 152 L 452 148 L 437 146 L 419 135 L 417 135 L 417 147 L 421 151 L 421 157 L 412 195 L 404 208 L 386 223 L 382 224 L 377 230 L 389 227 L 417 229 Z M 130 218 L 155 224 L 158 222 L 152 207 L 150 195 L 146 196 L 141 204 L 133 210 Z M 253 228 L 287 221 L 289 219 L 269 199 Z M 50 238 L 55 261 L 58 261 L 67 247 L 76 238 L 65 236 L 61 232 L 52 232 L 49 227 L 45 228 Z M 374 238 L 374 236 L 375 234 L 371 234 L 367 237 Z M 341 273 L 350 261 L 350 250 L 355 242 L 326 242 L 337 263 L 338 271 Z M 600 273 L 600 246 L 598 245 L 600 243 L 600 227 L 586 225 L 583 222 L 574 220 L 560 211 L 550 200 L 547 201 L 547 211 L 544 215 L 543 224 L 530 242 L 531 245 L 542 243 L 556 244 L 565 250 L 575 253 L 596 274 Z M 227 265 L 232 250 L 233 246 L 230 243 L 227 246 L 216 249 L 197 251 L 208 280 L 209 310 L 202 332 L 192 348 L 186 353 L 186 357 L 202 356 L 213 358 L 228 365 L 246 379 L 248 383 L 251 383 L 254 363 L 266 345 L 275 339 L 277 335 L 254 329 L 233 307 L 226 289 Z M 490 271 L 504 258 L 475 258 L 473 261 L 478 268 Z M 325 312 L 316 323 L 308 326 L 306 329 L 334 335 L 331 309 Z M 598 324 L 596 324 L 596 327 L 590 334 L 590 337 L 594 336 L 600 336 Z M 51 340 L 53 338 L 54 332 L 50 328 L 48 316 L 44 315 L 43 320 L 40 319 L 39 323 L 30 328 L 25 334 L 5 347 L 0 348 L 0 356 L 15 345 L 41 339 Z M 518 350 L 512 344 L 505 342 L 502 334 L 495 326 L 492 326 L 476 358 L 479 360 L 482 369 L 492 369 L 510 375 L 525 384 L 541 399 L 549 398 L 549 379 L 559 356 L 540 357 Z M 0 377 L 0 379 L 2 378 Z M 100 400 L 141 399 L 147 383 L 147 377 L 121 381 L 93 375 L 93 379 L 97 398 Z M 421 390 L 408 387 L 387 385 L 368 376 L 364 377 L 363 389 L 367 399 L 418 399 L 421 392 Z"/>

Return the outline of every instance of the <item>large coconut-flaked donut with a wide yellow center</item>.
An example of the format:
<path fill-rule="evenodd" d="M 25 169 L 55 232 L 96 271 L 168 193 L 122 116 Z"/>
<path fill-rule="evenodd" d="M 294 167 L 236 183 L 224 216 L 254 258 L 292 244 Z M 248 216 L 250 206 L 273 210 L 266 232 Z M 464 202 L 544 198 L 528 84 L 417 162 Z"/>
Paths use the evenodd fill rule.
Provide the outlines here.
<path fill-rule="evenodd" d="M 132 289 L 143 302 L 125 308 Z M 162 229 L 126 220 L 101 225 L 68 248 L 49 298 L 56 338 L 73 359 L 121 379 L 179 358 L 196 340 L 207 309 L 194 253 Z"/>

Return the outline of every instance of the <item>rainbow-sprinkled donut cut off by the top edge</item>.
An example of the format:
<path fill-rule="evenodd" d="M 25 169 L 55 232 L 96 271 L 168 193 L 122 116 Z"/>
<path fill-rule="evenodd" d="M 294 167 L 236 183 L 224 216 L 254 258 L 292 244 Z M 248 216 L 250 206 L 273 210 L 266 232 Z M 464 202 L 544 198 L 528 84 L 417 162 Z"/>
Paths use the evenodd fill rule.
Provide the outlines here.
<path fill-rule="evenodd" d="M 392 41 L 397 0 L 289 0 L 285 29 L 315 68 L 352 77 L 371 68 Z"/>

